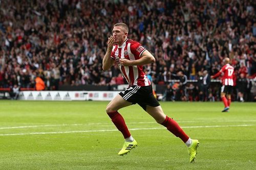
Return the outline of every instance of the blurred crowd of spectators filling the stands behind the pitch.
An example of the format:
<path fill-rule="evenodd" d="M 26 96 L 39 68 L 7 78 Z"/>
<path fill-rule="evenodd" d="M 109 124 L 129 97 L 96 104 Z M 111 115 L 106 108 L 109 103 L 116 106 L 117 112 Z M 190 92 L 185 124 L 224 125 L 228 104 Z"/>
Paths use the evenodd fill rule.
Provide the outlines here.
<path fill-rule="evenodd" d="M 113 24 L 124 22 L 129 38 L 156 58 L 144 68 L 154 84 L 175 91 L 172 80 L 200 82 L 203 72 L 216 74 L 229 57 L 239 92 L 253 83 L 241 80 L 256 75 L 255 5 L 253 0 L 0 1 L 0 87 L 33 88 L 36 77 L 47 90 L 124 84 L 117 65 L 102 71 L 101 64 Z M 179 98 L 188 100 L 194 88 L 198 95 L 200 85 L 187 83 Z"/>

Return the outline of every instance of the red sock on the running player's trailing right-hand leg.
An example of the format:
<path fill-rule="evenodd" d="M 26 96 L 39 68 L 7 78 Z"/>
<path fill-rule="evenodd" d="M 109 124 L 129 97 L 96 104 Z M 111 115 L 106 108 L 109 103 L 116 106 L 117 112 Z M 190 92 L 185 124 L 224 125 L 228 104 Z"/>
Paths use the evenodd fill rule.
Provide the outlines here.
<path fill-rule="evenodd" d="M 162 125 L 175 136 L 179 137 L 184 143 L 186 143 L 188 140 L 189 137 L 185 134 L 185 132 L 180 128 L 179 124 L 174 119 L 166 116 Z"/>

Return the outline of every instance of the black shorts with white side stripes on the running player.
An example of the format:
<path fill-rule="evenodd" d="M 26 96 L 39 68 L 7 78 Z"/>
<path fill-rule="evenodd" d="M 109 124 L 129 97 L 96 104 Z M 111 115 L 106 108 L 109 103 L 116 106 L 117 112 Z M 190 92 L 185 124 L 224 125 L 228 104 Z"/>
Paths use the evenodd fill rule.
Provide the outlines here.
<path fill-rule="evenodd" d="M 124 91 L 119 93 L 122 98 L 134 104 L 138 103 L 146 111 L 146 105 L 157 107 L 160 106 L 159 102 L 153 95 L 152 85 L 137 86 L 133 85 L 127 87 Z"/>

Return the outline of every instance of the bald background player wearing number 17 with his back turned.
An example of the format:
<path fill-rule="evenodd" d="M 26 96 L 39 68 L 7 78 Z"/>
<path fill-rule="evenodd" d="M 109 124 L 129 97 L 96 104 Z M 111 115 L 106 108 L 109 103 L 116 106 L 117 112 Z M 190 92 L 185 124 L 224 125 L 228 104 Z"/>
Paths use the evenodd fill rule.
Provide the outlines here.
<path fill-rule="evenodd" d="M 229 109 L 229 106 L 231 104 L 231 92 L 234 85 L 233 82 L 233 74 L 234 74 L 234 68 L 229 64 L 229 58 L 224 59 L 224 66 L 220 69 L 217 74 L 214 76 L 211 76 L 212 79 L 215 79 L 219 77 L 221 74 L 223 74 L 222 77 L 222 87 L 221 87 L 221 99 L 224 103 L 225 108 L 222 110 L 222 112 L 227 112 Z M 226 98 L 227 95 L 227 98 Z"/>

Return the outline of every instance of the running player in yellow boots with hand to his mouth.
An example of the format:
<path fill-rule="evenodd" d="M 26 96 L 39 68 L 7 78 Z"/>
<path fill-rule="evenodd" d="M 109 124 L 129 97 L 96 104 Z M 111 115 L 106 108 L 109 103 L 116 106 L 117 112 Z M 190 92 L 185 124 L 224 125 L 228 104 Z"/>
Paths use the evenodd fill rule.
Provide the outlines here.
<path fill-rule="evenodd" d="M 143 72 L 143 65 L 155 62 L 155 58 L 139 42 L 128 39 L 128 32 L 125 23 L 114 25 L 113 35 L 108 40 L 108 48 L 102 61 L 103 70 L 108 70 L 114 63 L 118 64 L 122 76 L 129 83 L 129 87 L 115 96 L 106 107 L 106 113 L 125 139 L 118 155 L 127 154 L 138 144 L 118 110 L 138 103 L 157 123 L 165 126 L 187 145 L 190 162 L 193 162 L 199 141 L 190 139 L 175 120 L 164 114 L 159 102 L 154 98 L 151 82 Z"/>

